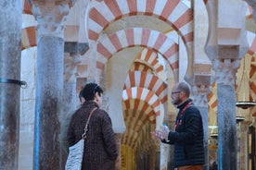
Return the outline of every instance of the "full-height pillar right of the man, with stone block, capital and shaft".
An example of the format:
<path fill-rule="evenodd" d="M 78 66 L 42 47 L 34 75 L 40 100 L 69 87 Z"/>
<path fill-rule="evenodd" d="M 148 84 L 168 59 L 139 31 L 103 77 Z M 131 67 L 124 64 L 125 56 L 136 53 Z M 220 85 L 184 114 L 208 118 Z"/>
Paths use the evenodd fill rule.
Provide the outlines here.
<path fill-rule="evenodd" d="M 235 80 L 239 59 L 248 51 L 242 1 L 209 0 L 210 31 L 205 51 L 217 82 L 218 169 L 237 170 Z M 229 10 L 226 10 L 226 9 Z M 244 14 L 244 15 L 243 15 Z M 237 20 L 237 22 L 230 22 Z"/>

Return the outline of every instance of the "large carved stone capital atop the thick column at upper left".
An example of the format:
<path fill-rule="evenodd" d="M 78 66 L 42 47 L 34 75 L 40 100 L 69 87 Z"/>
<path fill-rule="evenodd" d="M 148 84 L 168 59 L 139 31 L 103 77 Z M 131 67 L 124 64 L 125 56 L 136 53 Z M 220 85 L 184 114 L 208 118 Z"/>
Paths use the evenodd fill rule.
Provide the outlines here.
<path fill-rule="evenodd" d="M 37 41 L 43 36 L 64 37 L 64 23 L 76 0 L 29 0 L 38 22 Z"/>

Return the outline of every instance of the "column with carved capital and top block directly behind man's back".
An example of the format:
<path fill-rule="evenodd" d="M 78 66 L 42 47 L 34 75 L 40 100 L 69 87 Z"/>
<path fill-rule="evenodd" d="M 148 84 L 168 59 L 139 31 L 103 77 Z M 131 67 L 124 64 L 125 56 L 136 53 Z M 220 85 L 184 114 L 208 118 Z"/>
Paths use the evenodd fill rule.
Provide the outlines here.
<path fill-rule="evenodd" d="M 209 152 L 208 152 L 208 94 L 210 92 L 210 76 L 198 76 L 195 77 L 196 85 L 192 86 L 193 102 L 198 107 L 204 131 L 204 154 L 205 154 L 205 164 L 203 169 L 209 169 Z"/>

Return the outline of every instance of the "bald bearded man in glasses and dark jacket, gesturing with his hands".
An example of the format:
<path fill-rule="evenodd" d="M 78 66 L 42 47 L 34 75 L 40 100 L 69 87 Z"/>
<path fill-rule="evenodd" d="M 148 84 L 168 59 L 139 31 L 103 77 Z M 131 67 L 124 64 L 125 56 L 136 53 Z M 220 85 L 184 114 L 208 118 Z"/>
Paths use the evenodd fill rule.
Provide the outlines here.
<path fill-rule="evenodd" d="M 155 130 L 152 136 L 174 145 L 173 164 L 177 170 L 202 170 L 204 164 L 203 125 L 200 112 L 189 98 L 185 82 L 173 86 L 172 103 L 179 109 L 173 130 Z"/>

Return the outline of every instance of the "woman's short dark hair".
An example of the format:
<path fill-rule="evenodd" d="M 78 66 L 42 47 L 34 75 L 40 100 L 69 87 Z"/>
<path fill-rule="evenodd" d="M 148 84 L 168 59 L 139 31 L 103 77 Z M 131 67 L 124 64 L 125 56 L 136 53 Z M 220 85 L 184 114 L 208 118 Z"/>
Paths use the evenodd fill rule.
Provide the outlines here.
<path fill-rule="evenodd" d="M 83 87 L 83 90 L 80 92 L 80 96 L 82 96 L 85 101 L 92 101 L 95 99 L 96 92 L 101 96 L 103 90 L 96 83 L 90 82 Z"/>

